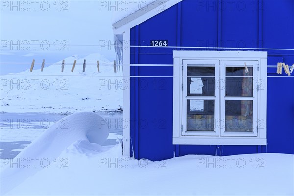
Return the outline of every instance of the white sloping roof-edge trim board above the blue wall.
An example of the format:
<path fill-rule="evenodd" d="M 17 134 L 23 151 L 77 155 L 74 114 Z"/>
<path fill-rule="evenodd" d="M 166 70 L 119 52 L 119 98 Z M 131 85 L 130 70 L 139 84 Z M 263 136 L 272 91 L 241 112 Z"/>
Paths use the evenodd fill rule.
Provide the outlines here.
<path fill-rule="evenodd" d="M 181 2 L 183 0 L 156 0 L 150 3 L 147 8 L 140 9 L 131 15 L 123 18 L 122 20 L 114 23 L 113 29 L 115 34 L 121 34 L 126 29 L 131 29 L 132 27 L 143 23 L 149 18 L 169 9 L 173 5 Z M 164 7 L 163 7 L 164 6 Z"/>

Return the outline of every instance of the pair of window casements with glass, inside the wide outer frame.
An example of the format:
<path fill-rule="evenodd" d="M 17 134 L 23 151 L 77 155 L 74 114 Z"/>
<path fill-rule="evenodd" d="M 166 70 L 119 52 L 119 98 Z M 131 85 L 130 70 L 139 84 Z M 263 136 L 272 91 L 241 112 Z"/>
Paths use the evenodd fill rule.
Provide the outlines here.
<path fill-rule="evenodd" d="M 258 61 L 200 62 L 183 67 L 182 136 L 257 136 Z"/>

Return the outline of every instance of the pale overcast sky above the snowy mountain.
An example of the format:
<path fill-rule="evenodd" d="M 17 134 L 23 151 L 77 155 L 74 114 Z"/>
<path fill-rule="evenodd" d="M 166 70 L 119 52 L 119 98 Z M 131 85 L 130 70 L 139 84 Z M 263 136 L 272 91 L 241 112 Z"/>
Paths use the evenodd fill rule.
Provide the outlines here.
<path fill-rule="evenodd" d="M 101 1 L 11 2 L 0 0 L 1 75 L 27 69 L 33 58 L 54 63 L 75 54 L 100 53 L 115 59 L 113 48 L 98 47 L 103 40 L 113 43 L 112 12 L 101 7 Z M 16 45 L 11 47 L 11 42 Z"/>

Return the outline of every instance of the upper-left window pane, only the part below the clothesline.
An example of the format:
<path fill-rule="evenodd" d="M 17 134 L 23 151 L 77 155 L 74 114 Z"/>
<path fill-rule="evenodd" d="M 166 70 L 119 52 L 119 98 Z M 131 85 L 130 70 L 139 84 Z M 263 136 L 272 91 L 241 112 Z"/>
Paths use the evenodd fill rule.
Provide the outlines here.
<path fill-rule="evenodd" d="M 187 96 L 214 96 L 214 77 L 188 77 Z"/>

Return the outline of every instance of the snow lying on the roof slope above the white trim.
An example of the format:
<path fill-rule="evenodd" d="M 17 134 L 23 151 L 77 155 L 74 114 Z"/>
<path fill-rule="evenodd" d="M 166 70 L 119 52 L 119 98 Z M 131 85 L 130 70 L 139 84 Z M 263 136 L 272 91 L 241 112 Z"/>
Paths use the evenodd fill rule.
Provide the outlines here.
<path fill-rule="evenodd" d="M 117 1 L 117 10 L 112 12 L 112 24 L 130 16 L 138 10 L 147 9 L 147 6 L 156 0 L 126 0 Z"/>

